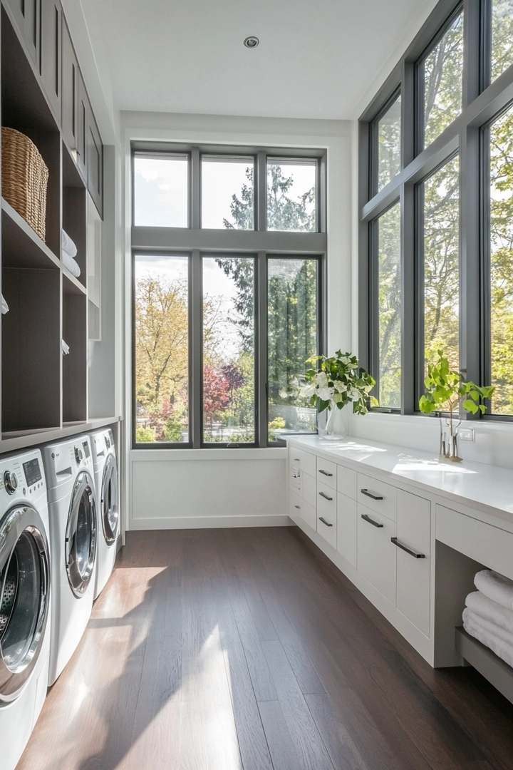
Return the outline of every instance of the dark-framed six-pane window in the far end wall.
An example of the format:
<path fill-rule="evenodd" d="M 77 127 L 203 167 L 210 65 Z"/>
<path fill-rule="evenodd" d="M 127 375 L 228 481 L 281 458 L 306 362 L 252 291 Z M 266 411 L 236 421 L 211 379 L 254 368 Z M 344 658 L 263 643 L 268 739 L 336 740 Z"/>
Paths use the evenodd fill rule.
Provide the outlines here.
<path fill-rule="evenodd" d="M 317 430 L 299 391 L 324 352 L 322 163 L 135 148 L 135 446 L 273 446 Z"/>

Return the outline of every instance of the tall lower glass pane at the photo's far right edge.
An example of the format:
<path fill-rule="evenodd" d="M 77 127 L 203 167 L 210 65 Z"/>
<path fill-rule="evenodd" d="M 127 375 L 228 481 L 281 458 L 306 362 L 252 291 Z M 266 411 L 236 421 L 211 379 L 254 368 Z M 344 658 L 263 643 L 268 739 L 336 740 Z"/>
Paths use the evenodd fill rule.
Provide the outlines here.
<path fill-rule="evenodd" d="M 513 109 L 490 129 L 491 410 L 513 414 Z M 485 383 L 488 384 L 488 383 Z"/>

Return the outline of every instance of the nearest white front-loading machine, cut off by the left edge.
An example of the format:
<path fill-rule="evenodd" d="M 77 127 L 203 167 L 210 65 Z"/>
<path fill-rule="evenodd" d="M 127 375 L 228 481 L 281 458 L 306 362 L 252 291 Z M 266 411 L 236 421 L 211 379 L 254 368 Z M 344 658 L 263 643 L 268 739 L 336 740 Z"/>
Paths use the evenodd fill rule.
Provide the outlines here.
<path fill-rule="evenodd" d="M 42 457 L 29 450 L 0 460 L 2 770 L 14 770 L 46 698 L 50 564 Z"/>

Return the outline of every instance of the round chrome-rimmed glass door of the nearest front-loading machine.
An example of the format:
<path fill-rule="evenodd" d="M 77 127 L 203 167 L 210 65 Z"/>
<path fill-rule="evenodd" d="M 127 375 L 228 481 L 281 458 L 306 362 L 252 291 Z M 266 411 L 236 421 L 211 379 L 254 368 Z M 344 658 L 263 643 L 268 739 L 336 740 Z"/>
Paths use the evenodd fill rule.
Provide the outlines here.
<path fill-rule="evenodd" d="M 0 703 L 18 698 L 41 651 L 49 605 L 45 527 L 30 506 L 0 521 Z"/>

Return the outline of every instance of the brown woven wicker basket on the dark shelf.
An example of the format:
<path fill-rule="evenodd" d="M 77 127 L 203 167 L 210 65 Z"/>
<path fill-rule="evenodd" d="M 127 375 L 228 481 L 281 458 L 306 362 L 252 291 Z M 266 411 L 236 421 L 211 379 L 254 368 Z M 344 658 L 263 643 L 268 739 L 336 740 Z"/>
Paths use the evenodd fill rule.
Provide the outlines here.
<path fill-rule="evenodd" d="M 2 196 L 45 240 L 48 168 L 28 136 L 2 126 Z"/>

